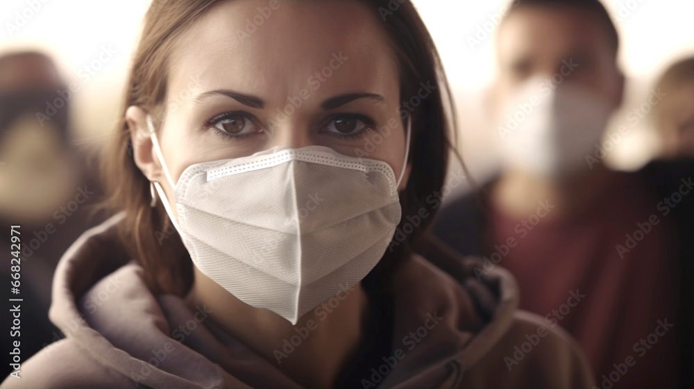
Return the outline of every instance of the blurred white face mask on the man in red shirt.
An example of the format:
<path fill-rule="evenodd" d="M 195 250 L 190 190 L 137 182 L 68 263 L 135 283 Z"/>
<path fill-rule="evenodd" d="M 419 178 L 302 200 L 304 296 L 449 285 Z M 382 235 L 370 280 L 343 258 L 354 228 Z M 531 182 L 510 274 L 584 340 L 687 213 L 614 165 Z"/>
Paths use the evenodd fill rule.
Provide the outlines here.
<path fill-rule="evenodd" d="M 611 114 L 608 104 L 575 83 L 532 78 L 500 115 L 502 162 L 536 176 L 559 177 L 588 167 Z"/>

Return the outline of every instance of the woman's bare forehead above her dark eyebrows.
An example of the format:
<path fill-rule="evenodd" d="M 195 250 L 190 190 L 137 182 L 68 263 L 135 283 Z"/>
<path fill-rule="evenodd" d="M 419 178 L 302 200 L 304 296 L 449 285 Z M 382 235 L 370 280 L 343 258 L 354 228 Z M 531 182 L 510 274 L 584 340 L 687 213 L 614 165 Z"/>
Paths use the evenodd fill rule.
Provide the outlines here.
<path fill-rule="evenodd" d="M 380 19 L 358 1 L 234 0 L 184 31 L 171 57 L 170 88 L 295 94 L 316 80 L 325 90 L 392 90 L 398 65 Z M 269 4 L 269 5 L 268 5 Z M 270 8 L 275 5 L 274 9 Z M 319 91 L 316 91 L 319 92 Z"/>

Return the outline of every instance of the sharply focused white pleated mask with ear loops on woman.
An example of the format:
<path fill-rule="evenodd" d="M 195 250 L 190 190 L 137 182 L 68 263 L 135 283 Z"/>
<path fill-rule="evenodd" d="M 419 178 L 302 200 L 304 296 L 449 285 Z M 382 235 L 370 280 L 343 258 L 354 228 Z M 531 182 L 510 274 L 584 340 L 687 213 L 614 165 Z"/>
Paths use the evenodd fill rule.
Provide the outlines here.
<path fill-rule="evenodd" d="M 400 222 L 393 169 L 323 146 L 274 147 L 169 175 L 178 222 L 155 188 L 194 265 L 255 308 L 296 324 L 323 301 L 361 281 Z M 407 149 L 409 149 L 409 125 Z M 407 151 L 405 164 L 407 163 Z"/>

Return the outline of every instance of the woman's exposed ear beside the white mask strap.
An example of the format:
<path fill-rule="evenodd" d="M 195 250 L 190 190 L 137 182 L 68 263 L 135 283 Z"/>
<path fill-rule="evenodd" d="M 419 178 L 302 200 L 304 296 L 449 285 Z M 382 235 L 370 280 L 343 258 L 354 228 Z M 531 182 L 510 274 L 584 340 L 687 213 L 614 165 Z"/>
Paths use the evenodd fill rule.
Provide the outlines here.
<path fill-rule="evenodd" d="M 154 156 L 146 111 L 139 106 L 128 107 L 126 124 L 130 130 L 130 142 L 133 144 L 135 165 L 149 181 L 155 181 L 160 176 L 162 169 L 159 159 Z"/>

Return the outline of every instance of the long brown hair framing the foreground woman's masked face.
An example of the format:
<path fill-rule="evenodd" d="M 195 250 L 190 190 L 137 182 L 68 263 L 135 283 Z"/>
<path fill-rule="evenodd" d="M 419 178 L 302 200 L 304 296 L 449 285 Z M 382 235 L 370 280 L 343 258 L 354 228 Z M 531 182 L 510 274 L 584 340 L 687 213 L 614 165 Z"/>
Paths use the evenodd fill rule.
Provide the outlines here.
<path fill-rule="evenodd" d="M 146 13 L 144 31 L 133 58 L 126 97 L 121 110 L 116 139 L 103 158 L 105 188 L 110 195 L 105 206 L 112 212 L 125 211 L 120 226 L 121 240 L 130 255 L 145 269 L 146 281 L 155 292 L 183 294 L 192 281 L 192 262 L 161 202 L 151 208 L 150 183 L 133 160 L 130 129 L 125 121 L 128 106 L 140 106 L 154 113 L 155 126 L 164 117 L 169 58 L 177 35 L 215 3 L 229 0 L 156 0 Z M 412 113 L 412 172 L 400 204 L 403 221 L 427 207 L 426 199 L 440 191 L 446 176 L 450 136 L 455 134 L 455 110 L 446 76 L 425 25 L 409 1 L 357 0 L 366 3 L 383 21 L 400 67 L 400 96 L 416 96 L 420 83 L 436 86 Z M 398 4 L 393 9 L 393 3 Z M 391 8 L 389 8 L 391 7 Z M 455 135 L 454 135 L 455 136 Z M 433 215 L 433 210 L 429 209 Z M 385 281 L 410 251 L 411 243 L 432 221 L 432 216 L 407 235 L 403 245 L 384 256 L 369 279 Z M 402 226 L 403 222 L 401 222 Z M 164 244 L 160 245 L 160 241 Z M 159 240 L 158 240 L 159 239 Z"/>

